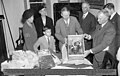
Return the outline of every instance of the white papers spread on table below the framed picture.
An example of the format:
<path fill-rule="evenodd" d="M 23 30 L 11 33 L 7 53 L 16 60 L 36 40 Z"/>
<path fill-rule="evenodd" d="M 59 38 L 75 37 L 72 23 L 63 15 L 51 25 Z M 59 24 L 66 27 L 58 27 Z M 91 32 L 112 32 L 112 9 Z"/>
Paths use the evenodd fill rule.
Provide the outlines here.
<path fill-rule="evenodd" d="M 93 69 L 92 64 L 84 58 L 84 60 L 64 61 L 61 65 L 56 65 L 52 69 Z"/>

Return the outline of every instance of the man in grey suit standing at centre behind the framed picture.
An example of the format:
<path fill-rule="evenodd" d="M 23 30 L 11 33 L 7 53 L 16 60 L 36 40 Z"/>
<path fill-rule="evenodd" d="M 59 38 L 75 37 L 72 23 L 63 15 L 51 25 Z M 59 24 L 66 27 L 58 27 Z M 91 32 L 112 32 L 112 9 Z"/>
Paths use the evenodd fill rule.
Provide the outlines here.
<path fill-rule="evenodd" d="M 61 16 L 55 26 L 55 36 L 59 40 L 59 48 L 61 49 L 62 45 L 66 42 L 68 35 L 82 34 L 83 31 L 80 27 L 78 20 L 70 16 L 69 6 L 64 6 L 61 9 Z"/>

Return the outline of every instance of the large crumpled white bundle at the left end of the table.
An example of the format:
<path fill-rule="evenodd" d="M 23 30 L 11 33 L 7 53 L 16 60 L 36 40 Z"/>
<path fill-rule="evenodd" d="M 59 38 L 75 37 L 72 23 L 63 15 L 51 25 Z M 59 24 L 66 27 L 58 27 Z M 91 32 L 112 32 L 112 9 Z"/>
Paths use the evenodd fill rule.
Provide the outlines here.
<path fill-rule="evenodd" d="M 14 51 L 12 60 L 3 62 L 2 69 L 32 69 L 38 66 L 38 56 L 32 51 Z"/>

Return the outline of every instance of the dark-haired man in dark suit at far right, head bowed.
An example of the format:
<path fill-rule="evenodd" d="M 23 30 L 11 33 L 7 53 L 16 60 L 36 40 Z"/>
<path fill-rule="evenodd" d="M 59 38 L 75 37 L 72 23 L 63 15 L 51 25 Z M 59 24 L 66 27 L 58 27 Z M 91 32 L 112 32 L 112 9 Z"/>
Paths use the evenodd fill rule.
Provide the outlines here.
<path fill-rule="evenodd" d="M 106 68 L 106 64 L 108 60 L 111 62 L 112 69 L 117 69 L 117 59 L 116 54 L 118 51 L 118 48 L 120 47 L 120 16 L 117 12 L 115 12 L 113 3 L 108 3 L 104 6 L 104 9 L 106 9 L 109 12 L 109 20 L 114 25 L 114 28 L 116 30 L 116 35 L 113 41 L 113 44 L 111 45 L 110 52 L 106 52 L 106 56 L 103 62 L 103 68 Z"/>

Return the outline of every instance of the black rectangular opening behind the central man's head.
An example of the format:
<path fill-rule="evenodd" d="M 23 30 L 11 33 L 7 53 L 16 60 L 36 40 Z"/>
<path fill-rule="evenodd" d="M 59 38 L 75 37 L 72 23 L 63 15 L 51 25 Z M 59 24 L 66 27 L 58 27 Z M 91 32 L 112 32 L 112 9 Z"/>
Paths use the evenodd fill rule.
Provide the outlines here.
<path fill-rule="evenodd" d="M 54 23 L 61 18 L 60 10 L 65 6 L 68 5 L 70 7 L 70 15 L 75 16 L 78 20 L 81 16 L 82 8 L 81 3 L 54 3 L 53 5 L 53 14 L 54 14 Z"/>

